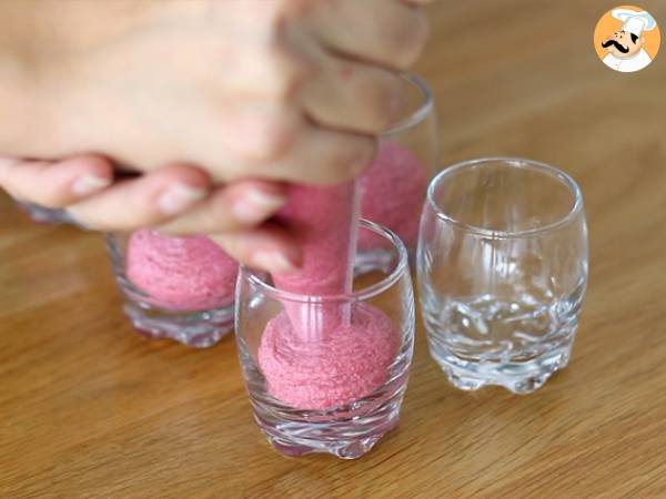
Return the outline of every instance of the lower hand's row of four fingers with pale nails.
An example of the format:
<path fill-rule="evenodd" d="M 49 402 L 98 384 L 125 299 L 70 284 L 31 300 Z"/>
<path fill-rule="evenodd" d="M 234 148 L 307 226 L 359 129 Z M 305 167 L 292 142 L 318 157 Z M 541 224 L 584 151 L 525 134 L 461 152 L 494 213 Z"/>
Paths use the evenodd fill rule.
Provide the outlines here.
<path fill-rule="evenodd" d="M 108 159 L 82 155 L 59 162 L 0 157 L 0 187 L 23 201 L 64 207 L 89 228 L 208 233 L 242 263 L 269 272 L 301 264 L 289 234 L 263 223 L 286 202 L 280 183 L 246 180 L 214 187 L 205 172 L 186 165 L 114 180 Z M 266 261 L 266 254 L 281 256 Z"/>

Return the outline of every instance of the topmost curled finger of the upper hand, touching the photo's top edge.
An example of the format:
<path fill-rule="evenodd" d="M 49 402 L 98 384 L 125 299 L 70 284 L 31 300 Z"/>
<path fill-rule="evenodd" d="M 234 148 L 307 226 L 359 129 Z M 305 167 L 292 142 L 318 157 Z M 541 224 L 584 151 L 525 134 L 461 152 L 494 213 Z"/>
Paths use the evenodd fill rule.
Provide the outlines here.
<path fill-rule="evenodd" d="M 320 42 L 334 52 L 404 70 L 425 45 L 427 20 L 414 6 L 396 0 L 341 0 L 319 6 L 311 19 Z"/>

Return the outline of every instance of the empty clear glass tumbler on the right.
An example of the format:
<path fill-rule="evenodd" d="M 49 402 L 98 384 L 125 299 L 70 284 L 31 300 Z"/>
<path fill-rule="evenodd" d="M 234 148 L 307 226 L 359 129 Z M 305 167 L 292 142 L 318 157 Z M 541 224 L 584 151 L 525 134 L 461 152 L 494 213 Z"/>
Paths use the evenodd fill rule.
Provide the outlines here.
<path fill-rule="evenodd" d="M 457 388 L 539 388 L 569 359 L 587 283 L 578 185 L 544 163 L 467 161 L 431 183 L 417 252 L 431 354 Z"/>

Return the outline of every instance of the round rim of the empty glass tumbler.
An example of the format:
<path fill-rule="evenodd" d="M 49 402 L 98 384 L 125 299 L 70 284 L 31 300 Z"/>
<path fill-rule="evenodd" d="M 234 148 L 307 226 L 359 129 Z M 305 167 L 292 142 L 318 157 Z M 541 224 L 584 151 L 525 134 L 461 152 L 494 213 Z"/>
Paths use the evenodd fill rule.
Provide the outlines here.
<path fill-rule="evenodd" d="M 559 180 L 568 187 L 569 193 L 572 193 L 574 196 L 574 203 L 573 203 L 572 207 L 568 210 L 566 215 L 564 215 L 563 217 L 561 217 L 559 220 L 557 220 L 555 222 L 552 222 L 549 224 L 546 224 L 546 225 L 543 225 L 539 227 L 526 228 L 526 230 L 522 230 L 522 231 L 495 231 L 492 228 L 480 227 L 480 226 L 467 224 L 465 222 L 456 220 L 453 216 L 445 213 L 444 210 L 442 210 L 442 207 L 440 207 L 440 205 L 434 200 L 434 192 L 435 192 L 436 186 L 445 177 L 447 177 L 456 172 L 466 170 L 468 167 L 476 166 L 478 164 L 491 163 L 491 162 L 502 162 L 506 166 L 521 169 L 521 170 L 538 171 L 538 172 L 546 173 L 546 174 L 551 175 L 552 177 Z M 488 238 L 495 238 L 495 240 L 508 238 L 508 237 L 526 237 L 526 236 L 541 234 L 544 232 L 551 232 L 556 228 L 559 228 L 561 226 L 567 225 L 573 218 L 578 216 L 578 214 L 583 211 L 583 193 L 581 191 L 581 187 L 576 183 L 576 181 L 569 174 L 565 173 L 564 171 L 562 171 L 555 166 L 552 166 L 552 165 L 541 162 L 541 161 L 528 160 L 525 157 L 514 157 L 514 156 L 478 157 L 475 160 L 462 161 L 460 163 L 455 163 L 451 166 L 445 167 L 437 175 L 435 175 L 435 177 L 431 181 L 431 183 L 427 187 L 426 202 L 430 205 L 431 210 L 433 210 L 435 212 L 435 215 L 437 216 L 437 218 L 443 220 L 447 223 L 451 223 L 451 224 L 453 224 L 460 228 L 463 228 L 464 231 L 467 231 L 472 234 L 476 234 L 476 235 L 488 237 Z"/>

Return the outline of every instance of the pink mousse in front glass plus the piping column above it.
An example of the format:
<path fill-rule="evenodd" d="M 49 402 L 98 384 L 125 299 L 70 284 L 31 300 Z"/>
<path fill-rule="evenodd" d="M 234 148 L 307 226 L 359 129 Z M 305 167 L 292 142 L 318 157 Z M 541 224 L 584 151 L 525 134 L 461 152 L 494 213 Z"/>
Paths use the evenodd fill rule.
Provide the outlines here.
<path fill-rule="evenodd" d="M 304 253 L 302 271 L 274 275 L 284 291 L 309 296 L 351 292 L 359 222 L 353 183 L 333 187 L 292 187 L 280 220 Z M 300 409 L 327 409 L 357 400 L 387 377 L 397 335 L 379 308 L 347 302 L 284 301 L 269 322 L 259 365 L 269 393 Z"/>

